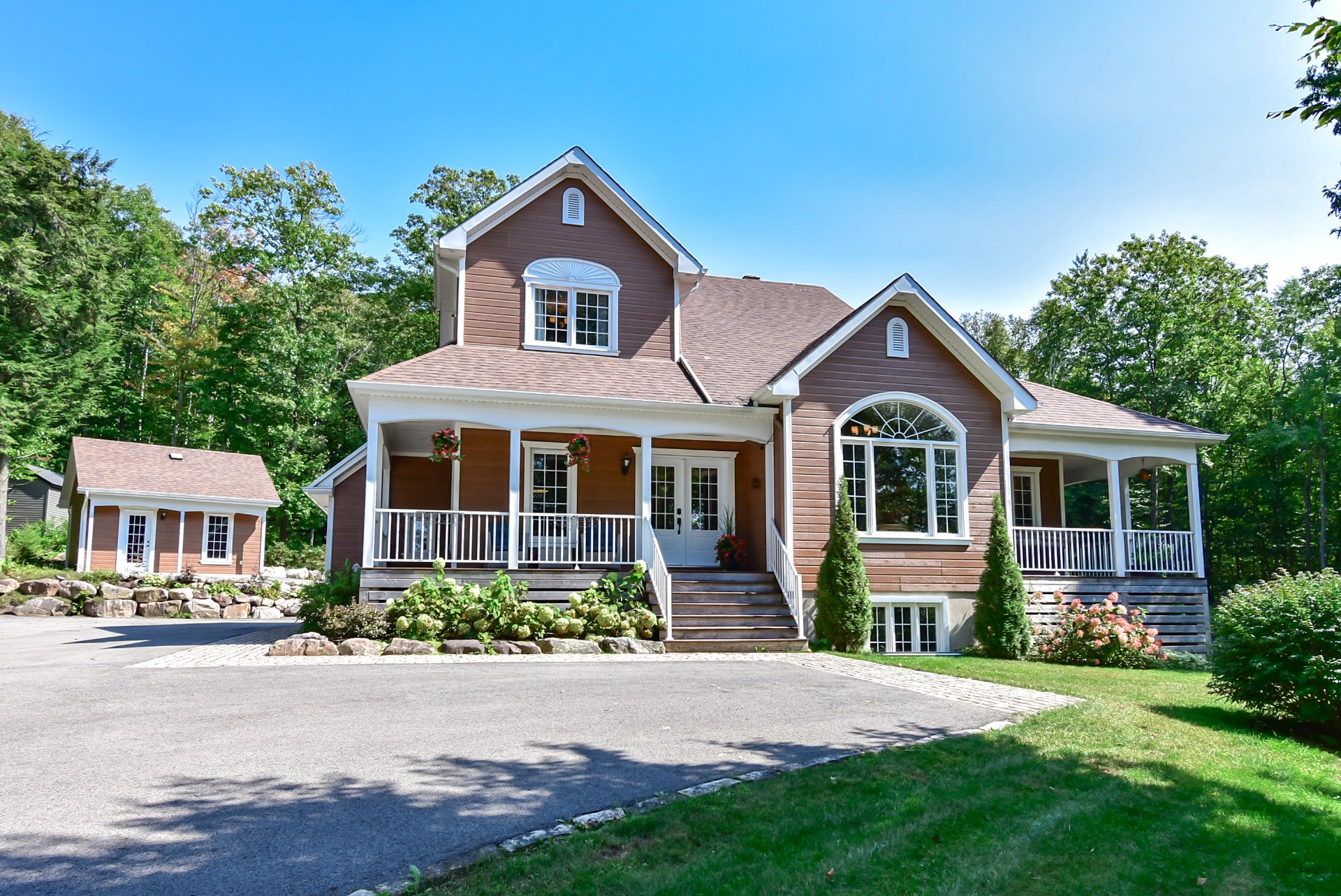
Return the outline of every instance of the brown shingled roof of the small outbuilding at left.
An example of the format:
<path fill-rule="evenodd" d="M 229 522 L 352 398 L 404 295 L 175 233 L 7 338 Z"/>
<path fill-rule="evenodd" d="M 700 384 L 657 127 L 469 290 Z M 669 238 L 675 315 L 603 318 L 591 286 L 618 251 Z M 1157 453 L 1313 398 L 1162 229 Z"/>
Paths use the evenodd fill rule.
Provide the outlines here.
<path fill-rule="evenodd" d="M 182 459 L 172 460 L 169 453 Z M 80 490 L 279 503 L 259 455 L 76 436 L 70 457 Z"/>

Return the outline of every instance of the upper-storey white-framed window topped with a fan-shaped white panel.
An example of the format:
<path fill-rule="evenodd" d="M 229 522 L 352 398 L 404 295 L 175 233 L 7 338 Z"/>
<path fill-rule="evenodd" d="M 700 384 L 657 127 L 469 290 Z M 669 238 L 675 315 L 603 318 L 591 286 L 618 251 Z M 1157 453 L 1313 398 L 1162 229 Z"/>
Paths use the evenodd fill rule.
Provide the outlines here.
<path fill-rule="evenodd" d="M 523 272 L 528 349 L 616 354 L 620 278 L 582 259 L 539 259 Z"/>

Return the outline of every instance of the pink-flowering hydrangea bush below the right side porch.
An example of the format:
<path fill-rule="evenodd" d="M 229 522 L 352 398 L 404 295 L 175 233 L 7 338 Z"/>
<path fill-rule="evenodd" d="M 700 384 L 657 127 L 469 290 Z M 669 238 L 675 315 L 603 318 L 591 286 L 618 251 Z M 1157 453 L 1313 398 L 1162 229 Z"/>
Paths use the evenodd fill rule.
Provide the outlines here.
<path fill-rule="evenodd" d="M 1080 598 L 1070 602 L 1057 592 L 1059 620 L 1055 628 L 1041 633 L 1038 657 L 1047 663 L 1069 665 L 1106 665 L 1122 669 L 1151 665 L 1165 660 L 1159 629 L 1145 628 L 1145 610 L 1118 604 L 1113 592 L 1098 604 L 1085 606 Z"/>

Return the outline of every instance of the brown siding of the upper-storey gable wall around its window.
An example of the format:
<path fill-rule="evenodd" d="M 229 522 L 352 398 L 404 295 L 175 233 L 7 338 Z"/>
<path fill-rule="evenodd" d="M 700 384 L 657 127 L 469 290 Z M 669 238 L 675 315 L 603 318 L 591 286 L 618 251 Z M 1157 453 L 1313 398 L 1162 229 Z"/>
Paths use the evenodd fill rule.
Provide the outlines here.
<path fill-rule="evenodd" d="M 563 224 L 563 190 L 586 197 L 586 223 Z M 675 284 L 670 264 L 579 180 L 565 180 L 476 237 L 465 254 L 465 343 L 522 345 L 526 266 L 543 258 L 605 264 L 620 278 L 620 354 L 670 358 Z"/>

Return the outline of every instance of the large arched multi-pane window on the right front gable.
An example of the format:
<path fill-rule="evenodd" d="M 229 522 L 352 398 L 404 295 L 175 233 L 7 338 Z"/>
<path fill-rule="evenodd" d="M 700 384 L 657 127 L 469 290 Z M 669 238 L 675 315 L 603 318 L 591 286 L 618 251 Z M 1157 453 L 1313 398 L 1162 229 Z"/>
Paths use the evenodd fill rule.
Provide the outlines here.
<path fill-rule="evenodd" d="M 872 537 L 964 534 L 964 428 L 916 396 L 880 396 L 838 423 L 857 531 Z"/>

